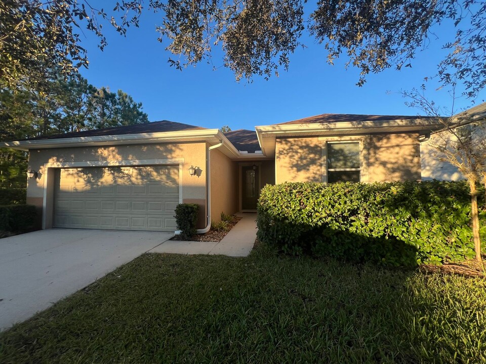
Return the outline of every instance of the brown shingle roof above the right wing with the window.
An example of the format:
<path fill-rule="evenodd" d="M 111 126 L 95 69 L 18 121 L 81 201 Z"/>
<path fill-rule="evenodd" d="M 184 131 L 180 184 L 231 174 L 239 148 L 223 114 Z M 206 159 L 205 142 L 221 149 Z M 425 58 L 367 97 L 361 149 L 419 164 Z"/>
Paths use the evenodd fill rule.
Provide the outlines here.
<path fill-rule="evenodd" d="M 320 114 L 309 116 L 303 119 L 286 121 L 273 125 L 292 125 L 292 124 L 322 124 L 336 122 L 360 122 L 360 121 L 389 121 L 389 120 L 417 120 L 429 119 L 432 116 L 411 116 L 411 115 L 362 115 L 362 114 Z"/>

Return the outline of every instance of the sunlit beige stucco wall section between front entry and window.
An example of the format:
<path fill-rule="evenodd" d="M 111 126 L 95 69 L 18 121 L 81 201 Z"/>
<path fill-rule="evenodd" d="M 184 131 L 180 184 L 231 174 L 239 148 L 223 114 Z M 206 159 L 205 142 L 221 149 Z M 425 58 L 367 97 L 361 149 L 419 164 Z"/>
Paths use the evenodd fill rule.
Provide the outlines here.
<path fill-rule="evenodd" d="M 319 138 L 289 138 L 275 141 L 275 183 L 321 182 Z"/>

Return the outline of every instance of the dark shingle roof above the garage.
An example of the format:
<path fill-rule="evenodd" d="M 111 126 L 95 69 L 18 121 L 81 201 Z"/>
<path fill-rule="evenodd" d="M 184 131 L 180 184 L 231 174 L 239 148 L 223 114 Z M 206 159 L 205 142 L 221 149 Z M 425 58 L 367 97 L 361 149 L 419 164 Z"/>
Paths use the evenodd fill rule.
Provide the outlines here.
<path fill-rule="evenodd" d="M 48 139 L 65 139 L 65 138 L 87 138 L 89 136 L 107 136 L 107 135 L 130 135 L 142 133 L 155 133 L 167 131 L 184 131 L 184 130 L 205 130 L 206 128 L 189 124 L 178 123 L 174 121 L 161 120 L 144 124 L 114 126 L 103 129 L 93 129 L 85 131 L 68 132 L 64 134 L 37 136 L 26 140 L 48 140 Z"/>

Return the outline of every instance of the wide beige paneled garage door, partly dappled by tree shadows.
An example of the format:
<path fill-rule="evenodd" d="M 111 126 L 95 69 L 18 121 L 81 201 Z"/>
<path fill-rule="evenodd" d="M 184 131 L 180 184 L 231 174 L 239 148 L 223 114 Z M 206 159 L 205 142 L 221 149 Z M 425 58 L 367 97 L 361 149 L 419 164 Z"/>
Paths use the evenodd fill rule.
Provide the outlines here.
<path fill-rule="evenodd" d="M 175 231 L 179 166 L 56 170 L 54 227 Z"/>

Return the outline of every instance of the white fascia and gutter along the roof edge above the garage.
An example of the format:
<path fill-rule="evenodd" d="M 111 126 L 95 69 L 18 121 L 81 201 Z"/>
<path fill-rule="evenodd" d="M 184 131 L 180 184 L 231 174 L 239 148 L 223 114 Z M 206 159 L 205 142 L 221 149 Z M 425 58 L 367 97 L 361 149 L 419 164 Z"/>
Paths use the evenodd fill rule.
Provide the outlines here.
<path fill-rule="evenodd" d="M 104 135 L 104 136 L 80 136 L 77 138 L 40 139 L 0 143 L 0 147 L 13 148 L 28 151 L 29 149 L 69 148 L 98 145 L 119 144 L 145 144 L 164 143 L 165 141 L 194 141 L 204 142 L 215 138 L 220 133 L 219 129 L 183 130 L 156 133 Z M 221 134 L 222 135 L 222 134 Z"/>

